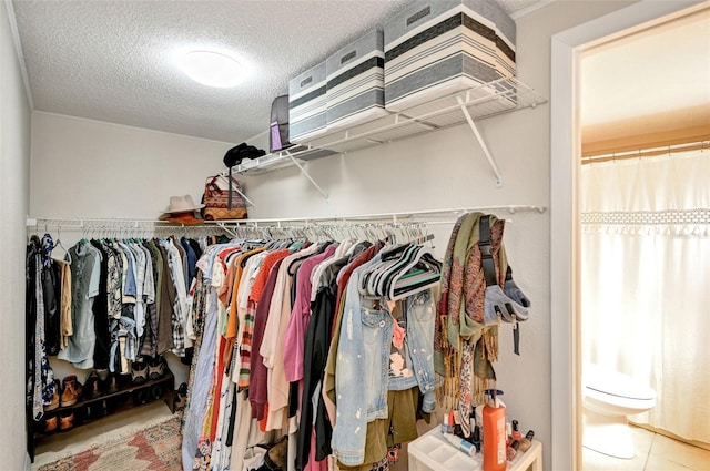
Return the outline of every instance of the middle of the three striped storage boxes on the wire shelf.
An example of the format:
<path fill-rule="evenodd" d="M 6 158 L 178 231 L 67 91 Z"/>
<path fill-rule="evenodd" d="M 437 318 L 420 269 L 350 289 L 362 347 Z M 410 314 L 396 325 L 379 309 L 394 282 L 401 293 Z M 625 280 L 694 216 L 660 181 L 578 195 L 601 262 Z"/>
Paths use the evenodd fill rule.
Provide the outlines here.
<path fill-rule="evenodd" d="M 387 114 L 383 45 L 383 32 L 375 30 L 325 61 L 328 131 Z"/>

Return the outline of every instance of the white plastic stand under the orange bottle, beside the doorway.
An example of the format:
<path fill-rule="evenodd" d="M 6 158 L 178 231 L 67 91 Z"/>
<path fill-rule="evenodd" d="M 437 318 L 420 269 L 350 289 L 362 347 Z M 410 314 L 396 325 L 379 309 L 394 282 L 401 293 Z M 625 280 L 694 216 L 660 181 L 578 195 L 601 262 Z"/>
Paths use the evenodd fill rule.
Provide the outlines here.
<path fill-rule="evenodd" d="M 483 471 L 483 454 L 469 457 L 449 443 L 438 428 L 434 428 L 407 446 L 409 471 Z M 525 453 L 518 451 L 507 462 L 508 471 L 542 471 L 542 446 L 532 440 Z"/>

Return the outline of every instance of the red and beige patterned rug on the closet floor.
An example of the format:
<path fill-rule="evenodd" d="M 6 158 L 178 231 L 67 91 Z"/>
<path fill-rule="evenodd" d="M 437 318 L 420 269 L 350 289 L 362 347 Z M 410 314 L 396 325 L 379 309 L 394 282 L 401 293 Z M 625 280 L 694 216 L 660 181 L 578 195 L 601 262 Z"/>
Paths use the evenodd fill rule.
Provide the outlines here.
<path fill-rule="evenodd" d="M 182 470 L 180 416 L 72 457 L 39 471 L 178 471 Z"/>

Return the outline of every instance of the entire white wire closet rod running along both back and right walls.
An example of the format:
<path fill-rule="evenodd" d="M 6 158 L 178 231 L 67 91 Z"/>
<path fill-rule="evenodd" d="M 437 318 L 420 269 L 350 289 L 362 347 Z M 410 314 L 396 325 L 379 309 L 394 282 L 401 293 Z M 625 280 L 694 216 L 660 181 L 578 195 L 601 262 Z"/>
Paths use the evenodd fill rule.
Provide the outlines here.
<path fill-rule="evenodd" d="M 456 215 L 471 212 L 485 212 L 485 211 L 499 211 L 499 212 L 508 212 L 510 214 L 515 214 L 517 212 L 538 212 L 545 213 L 547 211 L 546 206 L 536 206 L 536 205 L 498 205 L 498 206 L 478 206 L 478 207 L 458 207 L 458 208 L 442 208 L 442 209 L 420 209 L 420 211 L 403 211 L 395 213 L 372 213 L 372 214 L 356 214 L 356 215 L 333 215 L 333 216 L 305 216 L 305 217 L 282 217 L 282 218 L 255 218 L 255 219 L 224 219 L 224 221 L 204 221 L 203 224 L 199 225 L 185 225 L 180 223 L 171 223 L 170 221 L 160 221 L 160 219 L 141 219 L 141 218 L 129 218 L 129 217 L 116 217 L 116 218 L 87 218 L 87 217 L 29 217 L 27 218 L 28 227 L 36 227 L 38 225 L 52 225 L 52 226 L 64 226 L 64 227 L 84 227 L 92 226 L 95 227 L 100 224 L 120 226 L 123 228 L 145 228 L 151 226 L 160 226 L 160 227 L 213 227 L 224 226 L 224 225 L 258 225 L 258 224 L 281 224 L 281 223 L 304 223 L 308 225 L 311 223 L 343 223 L 343 222 L 367 222 L 367 221 L 377 221 L 382 222 L 383 219 L 392 219 L 393 223 L 397 223 L 399 218 L 412 218 L 417 216 L 425 215 Z"/>

